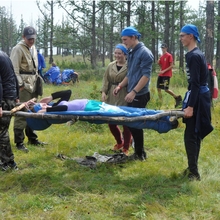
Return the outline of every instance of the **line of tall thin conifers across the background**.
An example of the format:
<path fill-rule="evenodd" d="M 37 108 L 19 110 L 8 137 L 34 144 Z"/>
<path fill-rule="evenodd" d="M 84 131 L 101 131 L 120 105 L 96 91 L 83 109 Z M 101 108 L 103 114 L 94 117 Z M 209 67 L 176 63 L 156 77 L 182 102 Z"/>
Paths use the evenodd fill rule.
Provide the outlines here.
<path fill-rule="evenodd" d="M 90 60 L 92 68 L 105 58 L 113 60 L 113 50 L 121 42 L 120 32 L 134 26 L 142 34 L 141 41 L 152 51 L 155 62 L 160 44 L 165 42 L 169 52 L 184 69 L 184 48 L 179 41 L 182 26 L 195 24 L 200 32 L 200 49 L 207 61 L 220 69 L 220 1 L 205 1 L 199 10 L 192 10 L 186 1 L 36 1 L 42 17 L 33 25 L 38 33 L 36 46 L 53 61 L 53 48 L 64 55 L 80 54 L 84 62 Z M 62 11 L 62 21 L 56 24 L 54 9 Z M 0 48 L 7 54 L 21 39 L 26 26 L 21 18 L 17 27 L 13 14 L 0 6 Z"/>

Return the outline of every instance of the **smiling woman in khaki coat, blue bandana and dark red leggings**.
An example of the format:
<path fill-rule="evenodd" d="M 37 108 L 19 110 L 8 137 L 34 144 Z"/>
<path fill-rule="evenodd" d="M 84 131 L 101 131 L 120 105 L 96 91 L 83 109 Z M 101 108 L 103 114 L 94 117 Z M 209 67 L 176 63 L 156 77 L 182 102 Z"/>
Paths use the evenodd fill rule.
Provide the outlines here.
<path fill-rule="evenodd" d="M 107 104 L 116 106 L 126 106 L 125 96 L 127 94 L 127 88 L 124 87 L 120 94 L 116 97 L 113 95 L 113 90 L 124 79 L 127 74 L 127 48 L 123 44 L 118 44 L 115 47 L 114 55 L 115 61 L 111 62 L 104 74 L 102 84 L 102 101 Z M 127 126 L 123 125 L 123 133 L 119 129 L 118 125 L 109 124 L 109 129 L 114 136 L 117 144 L 113 150 L 122 150 L 125 155 L 128 155 L 129 145 L 131 143 L 131 133 Z"/>

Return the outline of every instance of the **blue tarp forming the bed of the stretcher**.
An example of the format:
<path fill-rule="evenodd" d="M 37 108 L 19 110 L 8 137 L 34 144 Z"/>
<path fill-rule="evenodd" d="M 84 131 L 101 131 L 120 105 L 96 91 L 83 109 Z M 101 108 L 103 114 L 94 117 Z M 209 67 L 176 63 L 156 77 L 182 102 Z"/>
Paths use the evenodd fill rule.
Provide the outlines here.
<path fill-rule="evenodd" d="M 155 115 L 158 113 L 162 113 L 164 111 L 161 110 L 150 110 L 145 108 L 133 108 L 127 106 L 120 106 L 120 112 L 113 112 L 113 111 L 65 111 L 65 112 L 50 112 L 49 114 L 55 115 L 72 115 L 74 116 L 107 116 L 107 117 L 125 117 L 124 121 L 108 121 L 108 120 L 94 120 L 91 117 L 91 120 L 86 119 L 86 121 L 95 124 L 117 124 L 117 125 L 127 125 L 129 127 L 135 127 L 139 129 L 153 129 L 159 133 L 166 133 L 171 129 L 177 127 L 177 125 L 170 122 L 170 116 L 163 116 L 157 120 L 140 120 L 134 122 L 126 121 L 126 117 L 139 117 L 139 116 L 147 116 L 147 115 Z M 45 113 L 48 114 L 48 113 Z M 52 124 L 62 124 L 69 121 L 69 119 L 60 120 L 60 119 L 36 119 L 36 118 L 26 118 L 28 126 L 31 127 L 33 130 L 44 130 L 48 128 Z M 85 121 L 83 119 L 80 119 Z M 176 122 L 178 123 L 178 122 Z"/>

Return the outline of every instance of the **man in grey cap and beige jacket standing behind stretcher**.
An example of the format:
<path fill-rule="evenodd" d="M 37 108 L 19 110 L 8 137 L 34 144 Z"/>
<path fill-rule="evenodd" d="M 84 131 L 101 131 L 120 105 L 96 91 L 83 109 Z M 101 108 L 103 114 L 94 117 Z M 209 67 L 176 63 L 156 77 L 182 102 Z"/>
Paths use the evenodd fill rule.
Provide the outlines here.
<path fill-rule="evenodd" d="M 37 37 L 36 30 L 25 27 L 21 40 L 11 51 L 11 61 L 18 79 L 19 98 L 21 102 L 26 102 L 32 98 L 37 98 L 36 81 L 38 77 L 37 50 L 34 46 Z M 28 151 L 24 145 L 24 129 L 28 137 L 28 144 L 42 145 L 38 141 L 35 132 L 27 126 L 26 119 L 15 117 L 14 119 L 14 142 L 19 150 Z"/>

